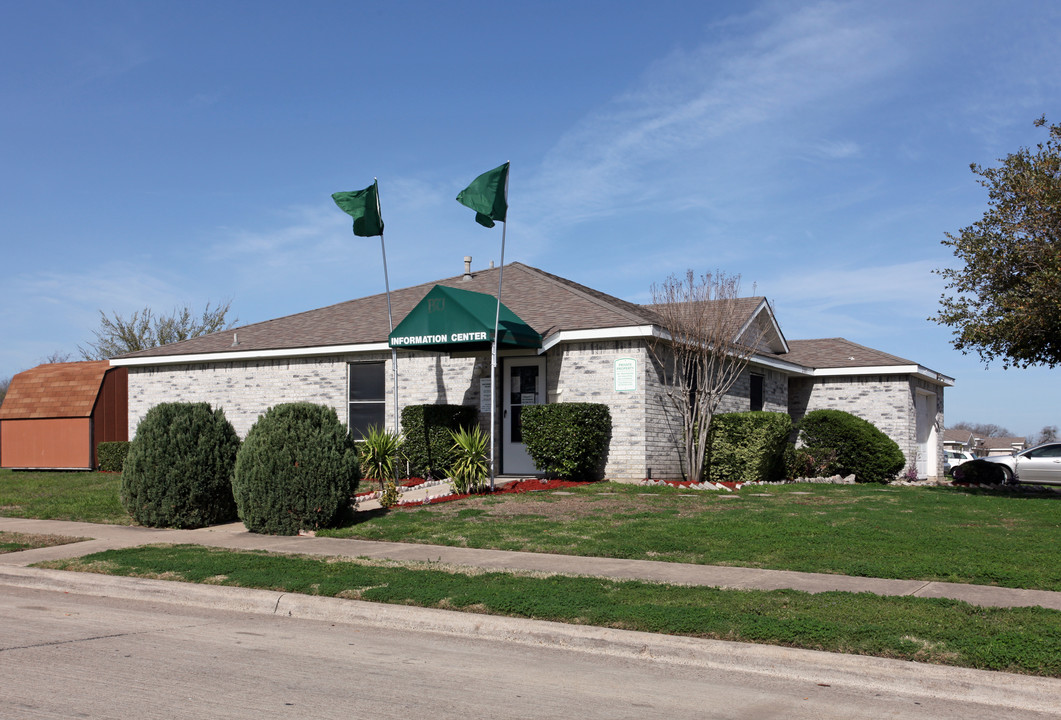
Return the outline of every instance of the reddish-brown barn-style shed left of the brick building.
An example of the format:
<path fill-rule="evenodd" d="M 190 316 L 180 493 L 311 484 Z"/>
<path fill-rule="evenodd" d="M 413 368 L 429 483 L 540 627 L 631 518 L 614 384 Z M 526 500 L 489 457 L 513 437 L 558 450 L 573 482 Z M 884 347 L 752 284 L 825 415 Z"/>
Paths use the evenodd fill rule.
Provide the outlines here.
<path fill-rule="evenodd" d="M 90 470 L 100 442 L 128 440 L 128 370 L 107 361 L 18 373 L 0 406 L 0 468 Z"/>

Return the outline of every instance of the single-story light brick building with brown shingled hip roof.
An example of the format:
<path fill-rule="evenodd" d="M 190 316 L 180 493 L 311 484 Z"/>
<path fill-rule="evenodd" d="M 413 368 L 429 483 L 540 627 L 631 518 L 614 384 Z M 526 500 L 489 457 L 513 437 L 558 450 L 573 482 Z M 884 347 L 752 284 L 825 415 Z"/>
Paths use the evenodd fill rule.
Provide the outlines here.
<path fill-rule="evenodd" d="M 369 424 L 394 428 L 395 348 L 400 406 L 473 405 L 488 425 L 497 403 L 500 474 L 535 472 L 520 442 L 523 405 L 597 402 L 612 417 L 609 478 L 681 477 L 677 426 L 660 400 L 661 373 L 648 350 L 661 331 L 651 308 L 522 263 L 506 265 L 491 383 L 493 311 L 474 322 L 482 314 L 476 297 L 497 298 L 498 274 L 472 273 L 466 263 L 464 275 L 393 291 L 394 333 L 386 296 L 375 295 L 112 358 L 128 369 L 131 434 L 153 405 L 177 400 L 224 408 L 241 436 L 267 407 L 295 401 L 334 407 L 355 434 Z M 951 377 L 842 338 L 788 341 L 765 298 L 743 298 L 735 312 L 735 326 L 758 323 L 763 340 L 720 411 L 799 419 L 821 407 L 848 410 L 892 437 L 923 475 L 942 475 Z"/>

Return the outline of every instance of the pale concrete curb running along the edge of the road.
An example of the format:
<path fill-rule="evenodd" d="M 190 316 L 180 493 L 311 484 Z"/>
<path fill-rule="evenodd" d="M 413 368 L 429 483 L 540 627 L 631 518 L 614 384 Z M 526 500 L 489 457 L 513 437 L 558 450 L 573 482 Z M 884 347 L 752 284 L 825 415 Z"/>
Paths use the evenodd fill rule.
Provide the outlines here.
<path fill-rule="evenodd" d="M 1061 698 L 1061 680 L 1050 678 L 275 591 L 17 566 L 0 567 L 0 584 L 648 658 L 712 672 L 754 673 L 816 686 L 868 688 L 1027 712 L 1057 713 Z"/>

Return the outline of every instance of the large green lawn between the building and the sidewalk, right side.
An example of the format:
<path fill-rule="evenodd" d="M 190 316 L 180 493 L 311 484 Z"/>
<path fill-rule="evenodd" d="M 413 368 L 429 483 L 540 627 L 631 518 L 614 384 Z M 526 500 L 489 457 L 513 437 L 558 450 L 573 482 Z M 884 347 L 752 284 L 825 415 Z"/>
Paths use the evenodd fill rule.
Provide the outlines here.
<path fill-rule="evenodd" d="M 598 484 L 366 512 L 318 534 L 1061 591 L 1061 495 L 1042 491 Z"/>

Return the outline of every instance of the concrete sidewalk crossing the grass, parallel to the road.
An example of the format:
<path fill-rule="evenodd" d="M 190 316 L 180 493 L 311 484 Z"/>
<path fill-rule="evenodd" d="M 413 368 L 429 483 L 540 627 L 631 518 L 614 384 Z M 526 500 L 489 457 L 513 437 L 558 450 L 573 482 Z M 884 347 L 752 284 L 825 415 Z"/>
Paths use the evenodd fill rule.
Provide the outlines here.
<path fill-rule="evenodd" d="M 104 549 L 134 547 L 150 543 L 190 543 L 239 550 L 267 550 L 321 557 L 373 558 L 414 562 L 440 562 L 497 570 L 525 570 L 581 575 L 629 580 L 647 580 L 684 585 L 706 585 L 740 590 L 793 589 L 808 593 L 843 591 L 876 595 L 938 597 L 962 600 L 975 605 L 1012 608 L 1040 605 L 1061 610 L 1061 593 L 969 585 L 923 580 L 859 578 L 823 573 L 795 573 L 753 567 L 723 567 L 484 550 L 442 545 L 384 543 L 335 538 L 276 537 L 248 532 L 242 523 L 198 530 L 169 530 L 124 525 L 95 525 L 50 520 L 0 517 L 0 530 L 23 533 L 85 538 L 83 542 L 0 555 L 0 566 L 27 566 L 46 560 L 74 558 Z"/>

